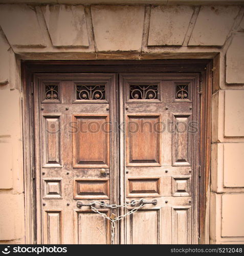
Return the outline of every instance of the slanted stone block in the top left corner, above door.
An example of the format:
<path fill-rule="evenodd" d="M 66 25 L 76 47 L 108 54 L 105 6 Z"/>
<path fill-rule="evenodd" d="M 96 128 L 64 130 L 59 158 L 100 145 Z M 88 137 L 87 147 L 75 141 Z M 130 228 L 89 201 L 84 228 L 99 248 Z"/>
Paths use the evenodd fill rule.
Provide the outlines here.
<path fill-rule="evenodd" d="M 0 26 L 11 46 L 45 47 L 34 7 L 1 5 Z"/>

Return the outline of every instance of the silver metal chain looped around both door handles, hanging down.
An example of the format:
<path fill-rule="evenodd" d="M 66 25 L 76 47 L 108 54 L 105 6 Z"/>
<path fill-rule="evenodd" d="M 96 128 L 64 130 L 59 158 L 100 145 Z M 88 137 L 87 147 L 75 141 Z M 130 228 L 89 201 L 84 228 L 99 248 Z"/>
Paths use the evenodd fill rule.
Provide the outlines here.
<path fill-rule="evenodd" d="M 111 240 L 112 240 L 112 244 L 114 244 L 114 238 L 115 238 L 115 222 L 116 221 L 119 221 L 119 220 L 122 220 L 123 218 L 125 218 L 126 216 L 128 215 L 131 215 L 133 214 L 134 212 L 138 211 L 140 208 L 142 208 L 145 204 L 141 204 L 141 202 L 143 202 L 143 199 L 140 199 L 138 201 L 134 201 L 132 203 L 125 203 L 125 204 L 122 204 L 122 205 L 116 205 L 116 204 L 105 204 L 105 203 L 101 203 L 101 202 L 98 202 L 98 201 L 94 201 L 90 204 L 91 206 L 91 209 L 96 212 L 97 214 L 100 214 L 104 219 L 107 219 L 110 221 L 111 223 Z M 128 206 L 130 205 L 136 205 L 140 203 L 140 205 L 138 207 L 135 207 L 131 210 L 129 210 L 128 212 L 126 212 L 124 215 L 120 215 L 118 217 L 116 217 L 115 219 L 112 219 L 110 217 L 108 217 L 106 214 L 104 214 L 103 212 L 99 211 L 96 207 L 94 207 L 95 204 L 98 204 L 102 207 L 108 207 L 108 208 L 119 208 L 119 207 L 124 207 L 124 208 L 127 208 Z"/>

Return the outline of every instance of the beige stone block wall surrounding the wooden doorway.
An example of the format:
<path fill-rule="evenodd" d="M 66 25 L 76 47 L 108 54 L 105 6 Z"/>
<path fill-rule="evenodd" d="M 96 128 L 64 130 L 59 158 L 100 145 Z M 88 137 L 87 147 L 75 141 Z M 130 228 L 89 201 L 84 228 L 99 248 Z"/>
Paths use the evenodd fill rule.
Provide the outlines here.
<path fill-rule="evenodd" d="M 0 5 L 1 243 L 25 243 L 19 60 L 166 58 L 214 58 L 210 243 L 244 243 L 243 13 L 238 5 Z"/>

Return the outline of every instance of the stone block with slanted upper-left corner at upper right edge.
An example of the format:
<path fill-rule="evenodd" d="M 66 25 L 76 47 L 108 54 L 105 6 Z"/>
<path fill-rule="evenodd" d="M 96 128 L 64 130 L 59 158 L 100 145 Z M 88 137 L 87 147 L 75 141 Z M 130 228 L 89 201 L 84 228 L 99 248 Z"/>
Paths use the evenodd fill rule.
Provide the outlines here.
<path fill-rule="evenodd" d="M 244 33 L 236 34 L 227 50 L 226 82 L 244 83 Z"/>

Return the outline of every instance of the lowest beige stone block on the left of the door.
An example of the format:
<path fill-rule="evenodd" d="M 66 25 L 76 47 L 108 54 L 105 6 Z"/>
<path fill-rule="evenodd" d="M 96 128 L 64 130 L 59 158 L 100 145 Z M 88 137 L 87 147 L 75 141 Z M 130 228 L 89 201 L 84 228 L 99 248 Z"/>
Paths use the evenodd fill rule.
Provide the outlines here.
<path fill-rule="evenodd" d="M 0 240 L 14 240 L 24 236 L 24 194 L 0 194 Z"/>

